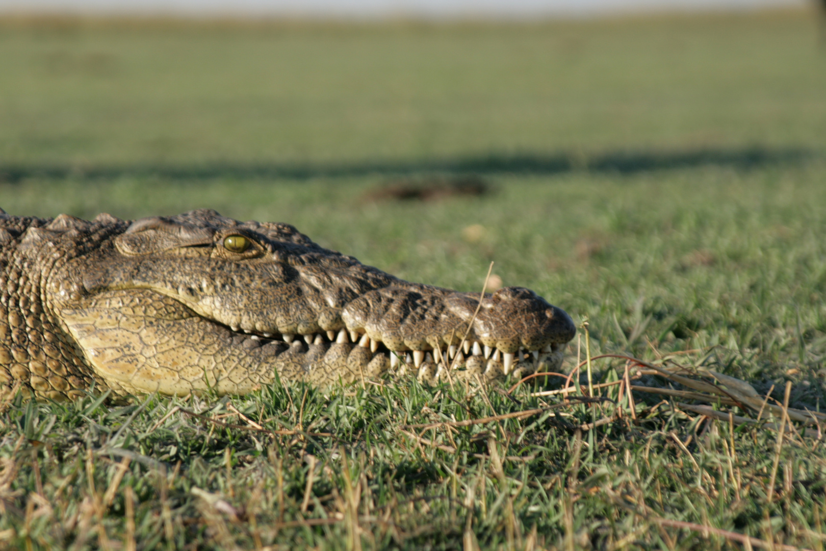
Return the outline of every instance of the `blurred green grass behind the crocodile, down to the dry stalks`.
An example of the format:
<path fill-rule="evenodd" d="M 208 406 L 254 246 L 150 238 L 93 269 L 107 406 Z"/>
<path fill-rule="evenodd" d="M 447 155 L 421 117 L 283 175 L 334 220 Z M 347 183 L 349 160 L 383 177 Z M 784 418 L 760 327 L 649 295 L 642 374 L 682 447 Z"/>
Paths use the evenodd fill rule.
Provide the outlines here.
<path fill-rule="evenodd" d="M 604 349 L 724 344 L 757 351 L 740 375 L 811 375 L 826 348 L 826 55 L 811 16 L 6 18 L 0 205 L 211 207 L 467 290 L 494 260 L 504 284 L 591 316 Z M 491 192 L 368 197 L 468 173 Z"/>

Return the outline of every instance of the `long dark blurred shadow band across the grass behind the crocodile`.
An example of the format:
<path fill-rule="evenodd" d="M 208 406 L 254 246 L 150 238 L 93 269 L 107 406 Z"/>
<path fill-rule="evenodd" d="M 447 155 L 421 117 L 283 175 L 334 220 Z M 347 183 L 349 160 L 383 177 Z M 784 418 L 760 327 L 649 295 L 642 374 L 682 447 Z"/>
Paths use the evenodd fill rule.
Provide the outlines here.
<path fill-rule="evenodd" d="M 114 179 L 154 176 L 178 180 L 210 178 L 340 178 L 371 174 L 417 173 L 520 173 L 553 175 L 572 171 L 631 174 L 658 169 L 690 169 L 727 166 L 755 169 L 771 164 L 799 164 L 819 157 L 814 150 L 800 148 L 698 149 L 680 151 L 617 151 L 591 157 L 558 152 L 552 154 L 487 154 L 454 159 L 381 160 L 354 163 L 290 164 L 232 163 L 201 164 L 0 164 L 0 182 L 18 183 L 26 178 Z"/>

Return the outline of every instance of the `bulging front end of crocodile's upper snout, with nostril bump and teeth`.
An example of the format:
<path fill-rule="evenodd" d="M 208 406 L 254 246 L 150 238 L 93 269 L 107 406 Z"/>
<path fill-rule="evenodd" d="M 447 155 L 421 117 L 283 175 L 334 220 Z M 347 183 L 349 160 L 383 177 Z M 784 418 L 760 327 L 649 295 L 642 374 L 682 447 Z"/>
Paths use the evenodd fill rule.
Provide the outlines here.
<path fill-rule="evenodd" d="M 358 297 L 342 319 L 354 341 L 364 335 L 363 346 L 412 355 L 416 367 L 432 351 L 434 363 L 461 364 L 472 356 L 501 361 L 505 374 L 529 354 L 561 354 L 576 333 L 565 311 L 522 287 L 505 287 L 480 302 L 476 293 L 399 282 Z M 457 354 L 463 357 L 453 360 Z"/>

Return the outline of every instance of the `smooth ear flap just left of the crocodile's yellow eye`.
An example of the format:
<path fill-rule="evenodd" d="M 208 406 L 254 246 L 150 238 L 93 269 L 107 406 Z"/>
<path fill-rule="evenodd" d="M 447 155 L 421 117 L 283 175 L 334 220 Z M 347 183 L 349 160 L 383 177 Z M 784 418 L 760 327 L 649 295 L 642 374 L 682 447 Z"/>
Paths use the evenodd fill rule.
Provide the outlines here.
<path fill-rule="evenodd" d="M 211 228 L 174 224 L 152 216 L 132 222 L 123 234 L 116 237 L 115 244 L 122 254 L 138 256 L 178 247 L 211 245 L 214 233 Z"/>

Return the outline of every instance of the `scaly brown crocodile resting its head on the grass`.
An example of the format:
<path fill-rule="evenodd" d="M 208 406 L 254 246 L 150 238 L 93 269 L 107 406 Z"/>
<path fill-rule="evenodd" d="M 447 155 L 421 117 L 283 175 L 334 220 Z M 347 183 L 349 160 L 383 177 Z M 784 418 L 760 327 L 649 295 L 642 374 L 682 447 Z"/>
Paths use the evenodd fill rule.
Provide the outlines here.
<path fill-rule="evenodd" d="M 244 394 L 555 369 L 570 316 L 523 287 L 408 283 L 293 226 L 212 210 L 136 221 L 0 209 L 0 388 Z"/>

